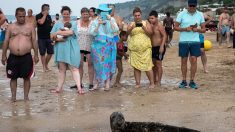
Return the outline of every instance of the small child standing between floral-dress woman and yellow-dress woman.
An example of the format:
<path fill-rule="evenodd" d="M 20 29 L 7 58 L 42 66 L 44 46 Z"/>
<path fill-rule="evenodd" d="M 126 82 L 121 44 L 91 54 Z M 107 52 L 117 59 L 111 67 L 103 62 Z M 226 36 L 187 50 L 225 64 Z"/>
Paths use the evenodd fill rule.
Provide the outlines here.
<path fill-rule="evenodd" d="M 124 56 L 126 59 L 129 57 L 128 54 L 126 54 L 126 52 L 124 51 L 124 41 L 127 40 L 127 32 L 126 31 L 121 31 L 119 34 L 119 42 L 117 42 L 117 57 L 116 57 L 116 64 L 117 64 L 117 69 L 118 69 L 118 74 L 116 77 L 116 82 L 114 84 L 114 86 L 116 87 L 121 87 L 120 84 L 120 79 L 121 79 L 121 75 L 123 72 L 123 68 L 122 68 L 122 57 Z"/>

